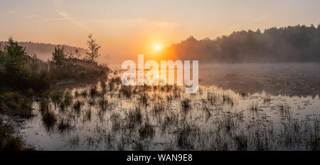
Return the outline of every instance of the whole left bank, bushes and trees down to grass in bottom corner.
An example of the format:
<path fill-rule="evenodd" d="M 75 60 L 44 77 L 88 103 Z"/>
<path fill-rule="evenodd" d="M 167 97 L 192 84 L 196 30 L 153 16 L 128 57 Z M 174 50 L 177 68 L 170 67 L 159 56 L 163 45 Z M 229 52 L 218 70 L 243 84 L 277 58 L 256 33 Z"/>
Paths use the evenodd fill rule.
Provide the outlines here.
<path fill-rule="evenodd" d="M 99 48 L 92 47 L 95 41 L 90 36 L 88 45 L 94 48 L 86 58 L 75 58 L 63 47 L 56 47 L 52 60 L 42 61 L 36 55 L 27 55 L 26 49 L 9 38 L 6 46 L 0 46 L 0 112 L 9 116 L 34 117 L 33 102 L 39 97 L 48 97 L 51 88 L 58 82 L 91 82 L 106 80 L 110 69 L 95 62 Z M 97 47 L 95 44 L 94 46 Z M 49 110 L 43 111 L 49 125 L 55 122 Z M 1 119 L 0 119 L 1 122 Z M 0 123 L 0 151 L 28 150 L 23 148 L 21 138 L 13 135 L 9 126 Z"/>

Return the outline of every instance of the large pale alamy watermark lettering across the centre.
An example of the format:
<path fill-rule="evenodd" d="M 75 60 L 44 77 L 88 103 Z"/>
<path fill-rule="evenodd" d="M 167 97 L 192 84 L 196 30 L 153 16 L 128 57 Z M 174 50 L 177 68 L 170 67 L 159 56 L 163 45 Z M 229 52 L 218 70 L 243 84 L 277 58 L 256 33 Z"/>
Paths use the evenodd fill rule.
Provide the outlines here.
<path fill-rule="evenodd" d="M 184 63 L 183 63 L 184 62 Z M 148 60 L 144 63 L 144 55 L 138 55 L 138 68 L 132 60 L 125 60 L 122 63 L 122 70 L 127 70 L 122 75 L 123 85 L 186 85 L 186 93 L 198 91 L 198 60 L 161 60 L 159 74 L 159 64 L 155 60 Z M 168 80 L 167 80 L 168 68 Z M 176 68 L 176 82 L 175 82 Z M 148 70 L 144 73 L 144 70 Z M 192 70 L 192 80 L 191 80 Z M 183 78 L 184 75 L 184 78 Z M 183 84 L 184 80 L 184 84 Z"/>

